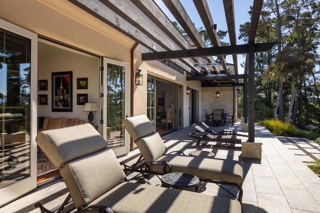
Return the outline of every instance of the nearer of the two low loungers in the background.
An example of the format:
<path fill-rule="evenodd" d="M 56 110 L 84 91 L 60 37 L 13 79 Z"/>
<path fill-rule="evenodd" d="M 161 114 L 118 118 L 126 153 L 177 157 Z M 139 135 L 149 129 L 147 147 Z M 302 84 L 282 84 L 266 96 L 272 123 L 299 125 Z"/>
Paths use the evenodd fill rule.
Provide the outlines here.
<path fill-rule="evenodd" d="M 203 140 L 205 140 L 205 141 L 208 141 L 208 140 L 221 141 L 224 143 L 241 142 L 241 137 L 236 136 L 236 135 L 210 134 L 195 123 L 192 124 L 191 126 L 193 126 L 198 132 L 200 132 L 200 133 L 192 133 L 191 132 L 188 134 L 189 137 L 198 139 L 198 141 L 196 142 L 196 146 L 199 146 L 200 141 L 203 141 Z"/>

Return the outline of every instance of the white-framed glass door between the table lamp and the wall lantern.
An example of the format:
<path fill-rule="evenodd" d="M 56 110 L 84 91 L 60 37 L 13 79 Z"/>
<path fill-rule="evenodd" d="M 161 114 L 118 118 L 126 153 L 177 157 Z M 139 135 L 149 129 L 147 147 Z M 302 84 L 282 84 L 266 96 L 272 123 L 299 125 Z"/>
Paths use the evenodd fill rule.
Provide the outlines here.
<path fill-rule="evenodd" d="M 126 86 L 128 64 L 110 59 L 104 59 L 103 73 L 103 127 L 102 135 L 115 154 L 128 153 L 129 139 L 126 139 L 122 119 L 127 117 L 129 90 Z"/>

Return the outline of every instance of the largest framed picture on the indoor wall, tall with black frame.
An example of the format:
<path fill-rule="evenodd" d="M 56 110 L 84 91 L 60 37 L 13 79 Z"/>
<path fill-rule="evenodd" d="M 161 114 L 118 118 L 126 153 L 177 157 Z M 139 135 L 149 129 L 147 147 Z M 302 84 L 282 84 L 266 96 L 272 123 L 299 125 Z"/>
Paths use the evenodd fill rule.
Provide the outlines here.
<path fill-rule="evenodd" d="M 52 112 L 72 112 L 72 71 L 52 72 Z"/>

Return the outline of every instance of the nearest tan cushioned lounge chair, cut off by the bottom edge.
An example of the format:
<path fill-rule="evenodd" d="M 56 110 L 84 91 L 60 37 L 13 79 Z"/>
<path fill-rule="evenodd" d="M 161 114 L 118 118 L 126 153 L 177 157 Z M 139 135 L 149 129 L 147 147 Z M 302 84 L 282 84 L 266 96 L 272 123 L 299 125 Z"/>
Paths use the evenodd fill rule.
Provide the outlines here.
<path fill-rule="evenodd" d="M 241 212 L 236 200 L 128 182 L 112 149 L 91 124 L 43 131 L 35 140 L 69 191 L 58 212 L 67 211 L 70 198 L 77 212 L 85 213 Z M 49 212 L 40 203 L 36 207 Z"/>

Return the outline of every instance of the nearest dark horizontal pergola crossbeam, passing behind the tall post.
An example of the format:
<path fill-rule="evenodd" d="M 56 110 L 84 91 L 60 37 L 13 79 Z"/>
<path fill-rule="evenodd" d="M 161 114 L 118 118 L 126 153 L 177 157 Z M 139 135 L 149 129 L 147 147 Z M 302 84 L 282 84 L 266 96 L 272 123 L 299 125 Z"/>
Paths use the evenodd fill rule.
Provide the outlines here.
<path fill-rule="evenodd" d="M 264 52 L 272 48 L 277 42 L 256 43 L 254 44 L 254 52 Z M 240 44 L 235 46 L 219 46 L 207 47 L 202 49 L 186 49 L 163 52 L 142 53 L 142 60 L 159 60 L 172 58 L 191 58 L 205 57 L 212 55 L 231 55 L 231 54 L 246 54 L 249 51 L 248 44 Z"/>

